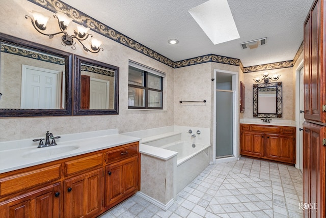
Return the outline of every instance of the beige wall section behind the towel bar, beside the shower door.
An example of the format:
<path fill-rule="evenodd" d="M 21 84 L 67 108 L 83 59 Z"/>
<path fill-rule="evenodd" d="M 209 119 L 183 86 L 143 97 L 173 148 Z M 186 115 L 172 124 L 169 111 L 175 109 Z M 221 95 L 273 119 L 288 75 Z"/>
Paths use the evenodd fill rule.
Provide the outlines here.
<path fill-rule="evenodd" d="M 210 128 L 211 63 L 174 70 L 174 123 L 179 126 Z M 206 102 L 179 103 L 179 101 Z"/>

